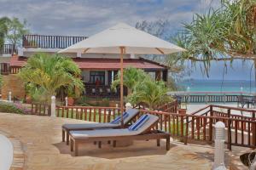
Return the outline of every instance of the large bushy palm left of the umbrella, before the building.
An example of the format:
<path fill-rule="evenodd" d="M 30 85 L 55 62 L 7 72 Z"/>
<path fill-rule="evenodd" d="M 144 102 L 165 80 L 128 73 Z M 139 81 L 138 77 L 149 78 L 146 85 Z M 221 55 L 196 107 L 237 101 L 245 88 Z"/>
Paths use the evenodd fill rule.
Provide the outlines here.
<path fill-rule="evenodd" d="M 80 73 L 72 59 L 57 54 L 34 54 L 19 76 L 26 82 L 32 99 L 49 104 L 50 97 L 60 88 L 81 91 L 84 85 Z"/>

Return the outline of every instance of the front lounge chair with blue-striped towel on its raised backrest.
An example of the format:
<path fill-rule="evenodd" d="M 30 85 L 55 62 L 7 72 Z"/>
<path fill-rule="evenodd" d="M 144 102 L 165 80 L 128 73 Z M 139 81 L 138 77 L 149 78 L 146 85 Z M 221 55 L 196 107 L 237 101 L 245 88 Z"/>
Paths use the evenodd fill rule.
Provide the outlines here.
<path fill-rule="evenodd" d="M 142 122 L 142 119 L 148 116 L 148 120 Z M 97 129 L 91 131 L 70 131 L 70 149 L 73 151 L 74 156 L 79 155 L 79 144 L 84 142 L 100 141 L 113 141 L 113 147 L 116 145 L 116 141 L 120 140 L 149 140 L 156 139 L 157 145 L 160 146 L 160 139 L 166 139 L 166 150 L 170 150 L 170 133 L 165 133 L 159 130 L 152 130 L 156 123 L 158 123 L 159 117 L 146 114 L 141 116 L 137 122 L 135 122 L 129 128 L 121 129 Z M 136 129 L 131 129 L 136 127 Z M 99 147 L 101 147 L 99 145 Z"/>

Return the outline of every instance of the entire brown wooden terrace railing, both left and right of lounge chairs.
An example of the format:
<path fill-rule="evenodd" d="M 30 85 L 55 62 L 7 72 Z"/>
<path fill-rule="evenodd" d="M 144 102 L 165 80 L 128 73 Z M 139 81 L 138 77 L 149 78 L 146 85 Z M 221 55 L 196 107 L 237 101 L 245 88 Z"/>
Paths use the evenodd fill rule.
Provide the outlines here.
<path fill-rule="evenodd" d="M 37 108 L 37 109 L 36 109 Z M 224 111 L 216 111 L 224 109 Z M 37 110 L 37 111 L 36 111 Z M 42 106 L 33 106 L 32 111 L 38 115 L 48 115 Z M 231 114 L 231 111 L 248 111 L 252 116 Z M 205 112 L 204 112 L 205 111 Z M 197 115 L 199 112 L 203 114 Z M 165 111 L 140 110 L 137 118 L 145 113 L 159 116 L 159 123 L 155 129 L 170 133 L 173 138 L 182 139 L 184 144 L 190 140 L 200 140 L 207 143 L 214 142 L 214 124 L 224 122 L 226 139 L 225 143 L 231 150 L 232 145 L 256 148 L 256 122 L 255 112 L 239 108 L 209 105 L 193 114 L 177 114 Z M 56 116 L 79 119 L 90 122 L 110 122 L 120 114 L 115 107 L 88 107 L 88 106 L 57 106 Z M 137 119 L 136 118 L 136 119 Z M 136 120 L 134 120 L 136 121 Z"/>

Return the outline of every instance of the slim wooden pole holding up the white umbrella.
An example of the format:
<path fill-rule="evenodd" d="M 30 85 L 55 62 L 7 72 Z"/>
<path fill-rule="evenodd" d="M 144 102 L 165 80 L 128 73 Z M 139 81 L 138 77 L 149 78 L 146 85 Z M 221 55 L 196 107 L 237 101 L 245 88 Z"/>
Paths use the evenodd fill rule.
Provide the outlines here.
<path fill-rule="evenodd" d="M 124 64 L 123 55 L 125 47 L 120 47 L 120 108 L 121 108 L 121 127 L 124 127 Z"/>

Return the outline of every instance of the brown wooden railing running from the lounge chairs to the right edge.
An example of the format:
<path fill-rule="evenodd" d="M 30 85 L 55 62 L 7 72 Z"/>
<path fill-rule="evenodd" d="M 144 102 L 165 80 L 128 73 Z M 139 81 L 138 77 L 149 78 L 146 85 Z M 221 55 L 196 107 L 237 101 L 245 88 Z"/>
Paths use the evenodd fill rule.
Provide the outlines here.
<path fill-rule="evenodd" d="M 212 143 L 214 141 L 214 124 L 221 121 L 226 126 L 225 143 L 230 150 L 231 145 L 256 148 L 256 122 L 254 118 L 223 117 L 214 115 L 213 112 L 212 116 L 180 115 L 159 111 L 141 112 L 149 112 L 159 116 L 160 122 L 155 128 L 171 133 L 173 137 L 183 139 L 184 144 L 187 144 L 189 139 Z"/>

